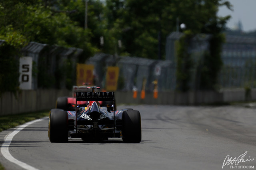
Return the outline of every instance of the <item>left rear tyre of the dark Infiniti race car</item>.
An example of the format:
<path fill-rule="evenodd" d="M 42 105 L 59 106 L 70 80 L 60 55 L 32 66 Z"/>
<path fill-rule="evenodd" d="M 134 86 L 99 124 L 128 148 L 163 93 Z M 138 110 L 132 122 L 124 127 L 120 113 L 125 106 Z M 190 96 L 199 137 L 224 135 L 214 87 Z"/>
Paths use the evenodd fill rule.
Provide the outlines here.
<path fill-rule="evenodd" d="M 62 109 L 52 109 L 49 115 L 50 142 L 68 142 L 68 114 Z"/>

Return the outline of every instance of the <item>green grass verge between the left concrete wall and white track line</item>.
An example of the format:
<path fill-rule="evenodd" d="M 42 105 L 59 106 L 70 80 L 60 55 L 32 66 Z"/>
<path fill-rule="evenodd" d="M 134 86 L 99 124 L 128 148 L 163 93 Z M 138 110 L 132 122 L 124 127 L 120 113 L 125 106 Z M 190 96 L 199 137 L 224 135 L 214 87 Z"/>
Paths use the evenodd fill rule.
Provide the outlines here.
<path fill-rule="evenodd" d="M 0 116 L 0 132 L 49 115 L 49 111 Z M 4 167 L 0 163 L 0 170 Z"/>

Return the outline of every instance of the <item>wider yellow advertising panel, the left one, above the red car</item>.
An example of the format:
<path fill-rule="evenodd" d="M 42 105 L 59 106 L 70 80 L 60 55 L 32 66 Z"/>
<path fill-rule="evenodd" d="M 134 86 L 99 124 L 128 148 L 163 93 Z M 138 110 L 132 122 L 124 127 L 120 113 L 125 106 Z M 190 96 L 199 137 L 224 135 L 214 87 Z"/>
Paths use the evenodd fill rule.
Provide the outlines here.
<path fill-rule="evenodd" d="M 76 85 L 84 84 L 93 85 L 93 69 L 94 65 L 76 64 Z"/>

